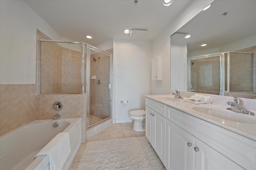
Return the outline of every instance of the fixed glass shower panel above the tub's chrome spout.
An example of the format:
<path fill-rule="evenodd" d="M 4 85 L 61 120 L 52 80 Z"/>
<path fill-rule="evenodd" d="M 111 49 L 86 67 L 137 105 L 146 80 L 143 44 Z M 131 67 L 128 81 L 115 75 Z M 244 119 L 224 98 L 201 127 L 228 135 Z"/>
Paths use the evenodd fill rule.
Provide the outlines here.
<path fill-rule="evenodd" d="M 39 40 L 39 94 L 85 92 L 83 70 L 86 70 L 86 54 L 82 55 L 83 45 Z"/>

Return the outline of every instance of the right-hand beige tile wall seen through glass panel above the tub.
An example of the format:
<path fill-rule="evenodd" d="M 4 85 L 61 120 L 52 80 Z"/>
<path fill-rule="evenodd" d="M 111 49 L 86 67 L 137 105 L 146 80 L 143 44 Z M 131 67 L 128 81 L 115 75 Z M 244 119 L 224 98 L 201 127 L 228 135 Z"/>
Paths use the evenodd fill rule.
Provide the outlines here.
<path fill-rule="evenodd" d="M 62 47 L 62 93 L 81 93 L 81 52 Z"/>

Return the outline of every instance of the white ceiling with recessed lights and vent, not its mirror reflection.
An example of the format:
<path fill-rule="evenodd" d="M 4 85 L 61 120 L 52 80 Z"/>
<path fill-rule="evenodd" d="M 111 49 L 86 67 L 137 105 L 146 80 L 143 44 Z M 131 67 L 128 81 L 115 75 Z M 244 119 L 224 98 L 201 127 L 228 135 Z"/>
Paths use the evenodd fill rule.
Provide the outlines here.
<path fill-rule="evenodd" d="M 191 0 L 24 0 L 62 37 L 97 45 L 109 39 L 152 41 Z M 147 29 L 142 38 L 124 29 Z M 85 35 L 92 35 L 87 39 Z"/>

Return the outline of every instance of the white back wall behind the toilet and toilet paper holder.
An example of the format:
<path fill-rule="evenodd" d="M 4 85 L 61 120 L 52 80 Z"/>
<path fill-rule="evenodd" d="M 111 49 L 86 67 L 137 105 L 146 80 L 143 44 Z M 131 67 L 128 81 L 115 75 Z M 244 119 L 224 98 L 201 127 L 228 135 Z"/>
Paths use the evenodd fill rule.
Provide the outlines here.
<path fill-rule="evenodd" d="M 145 109 L 145 95 L 150 94 L 151 48 L 149 41 L 114 39 L 114 123 L 132 121 L 129 111 Z"/>

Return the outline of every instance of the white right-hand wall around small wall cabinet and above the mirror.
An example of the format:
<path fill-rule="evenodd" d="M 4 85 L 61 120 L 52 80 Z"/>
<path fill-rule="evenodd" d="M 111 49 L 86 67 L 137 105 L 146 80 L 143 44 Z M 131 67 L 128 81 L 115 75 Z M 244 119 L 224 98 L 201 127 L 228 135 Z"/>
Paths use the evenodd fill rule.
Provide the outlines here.
<path fill-rule="evenodd" d="M 171 88 L 170 82 L 175 81 L 172 80 L 170 76 L 170 70 L 172 70 L 172 68 L 170 68 L 170 36 L 213 1 L 214 0 L 192 0 L 188 6 L 180 12 L 180 15 L 178 15 L 175 20 L 171 21 L 156 39 L 154 39 L 152 43 L 152 58 L 156 55 L 162 56 L 163 80 L 151 83 L 152 94 L 169 94 Z M 178 70 L 175 71 L 178 72 Z"/>

